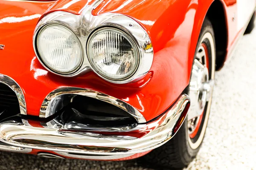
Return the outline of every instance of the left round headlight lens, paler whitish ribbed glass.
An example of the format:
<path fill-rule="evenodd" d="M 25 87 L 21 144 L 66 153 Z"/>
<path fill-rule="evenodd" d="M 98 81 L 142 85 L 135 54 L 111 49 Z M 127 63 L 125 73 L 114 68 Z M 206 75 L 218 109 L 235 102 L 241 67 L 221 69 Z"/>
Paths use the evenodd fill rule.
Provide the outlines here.
<path fill-rule="evenodd" d="M 67 27 L 50 24 L 41 28 L 37 37 L 40 58 L 51 70 L 69 74 L 82 61 L 82 48 L 76 35 Z"/>

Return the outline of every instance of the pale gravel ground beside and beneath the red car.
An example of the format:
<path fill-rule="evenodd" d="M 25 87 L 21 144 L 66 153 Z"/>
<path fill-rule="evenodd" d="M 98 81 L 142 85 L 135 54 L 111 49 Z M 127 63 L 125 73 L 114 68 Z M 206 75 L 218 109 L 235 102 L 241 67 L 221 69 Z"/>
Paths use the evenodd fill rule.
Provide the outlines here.
<path fill-rule="evenodd" d="M 256 169 L 256 29 L 244 35 L 233 57 L 216 73 L 204 143 L 184 170 Z M 131 161 L 46 159 L 0 152 L 0 170 L 152 170 Z"/>

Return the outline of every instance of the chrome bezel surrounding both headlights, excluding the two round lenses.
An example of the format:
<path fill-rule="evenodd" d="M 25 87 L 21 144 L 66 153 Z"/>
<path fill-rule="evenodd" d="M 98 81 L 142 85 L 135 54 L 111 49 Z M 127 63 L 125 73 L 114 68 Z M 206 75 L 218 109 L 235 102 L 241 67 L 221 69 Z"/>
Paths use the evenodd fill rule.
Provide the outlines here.
<path fill-rule="evenodd" d="M 74 76 L 79 76 L 81 74 L 85 74 L 90 70 L 93 70 L 96 74 L 99 75 L 99 77 L 109 82 L 113 82 L 117 84 L 134 82 L 140 79 L 141 77 L 143 77 L 143 75 L 147 74 L 151 68 L 154 53 L 153 53 L 153 47 L 151 44 L 150 37 L 148 36 L 144 28 L 140 26 L 139 23 L 137 23 L 135 20 L 125 15 L 115 14 L 115 13 L 105 13 L 97 16 L 92 15 L 93 8 L 95 8 L 96 5 L 99 4 L 99 2 L 100 1 L 96 1 L 92 6 L 90 5 L 85 6 L 80 15 L 75 15 L 75 14 L 71 14 L 64 11 L 55 11 L 46 15 L 44 18 L 42 18 L 42 20 L 38 22 L 38 25 L 36 26 L 35 32 L 33 35 L 33 46 L 34 46 L 35 54 L 38 60 L 41 62 L 41 64 L 48 71 L 54 74 L 57 74 L 59 76 L 74 77 Z M 62 26 L 66 26 L 71 31 L 73 31 L 73 33 L 76 34 L 76 36 L 80 40 L 83 51 L 84 51 L 84 59 L 83 59 L 83 62 L 81 63 L 80 68 L 77 71 L 70 74 L 59 74 L 49 69 L 47 65 L 45 65 L 44 62 L 42 62 L 40 55 L 38 54 L 38 51 L 37 51 L 36 38 L 41 28 L 43 28 L 48 24 L 60 24 Z M 132 40 L 134 40 L 135 44 L 137 45 L 138 52 L 140 54 L 139 65 L 138 65 L 137 71 L 127 79 L 111 80 L 103 77 L 101 74 L 98 73 L 98 71 L 96 71 L 93 68 L 93 66 L 91 65 L 87 57 L 87 40 L 88 38 L 90 38 L 90 35 L 93 33 L 93 31 L 95 31 L 100 27 L 109 27 L 109 26 L 115 27 L 120 29 L 121 31 L 124 31 L 126 34 L 128 34 L 128 36 L 131 37 Z"/>

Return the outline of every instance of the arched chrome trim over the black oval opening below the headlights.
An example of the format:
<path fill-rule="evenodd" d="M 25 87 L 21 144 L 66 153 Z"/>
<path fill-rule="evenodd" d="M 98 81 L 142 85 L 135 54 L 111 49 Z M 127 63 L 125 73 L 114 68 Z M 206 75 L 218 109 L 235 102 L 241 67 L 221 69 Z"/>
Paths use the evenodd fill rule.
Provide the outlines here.
<path fill-rule="evenodd" d="M 101 100 L 103 102 L 110 103 L 111 105 L 115 105 L 116 107 L 121 108 L 124 111 L 127 111 L 137 120 L 138 123 L 146 122 L 144 116 L 136 108 L 132 107 L 126 102 L 123 102 L 122 100 L 116 99 L 115 97 L 109 96 L 108 94 L 100 93 L 98 91 L 75 87 L 58 88 L 49 93 L 45 97 L 41 105 L 39 117 L 46 118 L 54 114 L 52 113 L 52 110 L 53 108 L 55 108 L 55 104 L 57 103 L 57 101 L 61 99 L 61 95 L 64 94 L 76 94 L 81 96 L 87 96 Z"/>

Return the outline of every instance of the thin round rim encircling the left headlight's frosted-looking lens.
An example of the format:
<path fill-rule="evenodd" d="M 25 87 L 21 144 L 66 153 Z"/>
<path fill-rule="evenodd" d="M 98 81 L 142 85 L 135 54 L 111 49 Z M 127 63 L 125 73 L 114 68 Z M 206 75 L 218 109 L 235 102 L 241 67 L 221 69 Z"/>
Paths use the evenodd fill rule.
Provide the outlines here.
<path fill-rule="evenodd" d="M 64 29 L 66 29 L 67 31 L 69 31 L 77 40 L 78 42 L 78 45 L 79 45 L 79 49 L 80 49 L 80 53 L 81 53 L 81 56 L 80 56 L 80 59 L 79 59 L 79 64 L 77 64 L 77 66 L 75 68 L 73 68 L 71 71 L 68 71 L 68 72 L 61 72 L 61 71 L 57 71 L 56 69 L 52 68 L 51 66 L 49 66 L 45 59 L 41 56 L 40 52 L 39 52 L 39 49 L 38 49 L 38 37 L 39 35 L 41 34 L 42 31 L 44 31 L 45 29 L 47 28 L 50 28 L 50 27 L 53 27 L 53 26 L 60 26 Z M 81 45 L 81 41 L 79 40 L 79 38 L 77 37 L 77 35 L 73 32 L 72 29 L 70 29 L 69 27 L 65 26 L 65 25 L 62 25 L 61 23 L 46 23 L 44 24 L 43 26 L 41 26 L 36 34 L 34 35 L 34 49 L 35 49 L 35 53 L 37 54 L 37 57 L 38 57 L 38 60 L 40 61 L 40 63 L 48 70 L 48 71 L 51 71 L 55 74 L 60 74 L 60 75 L 70 75 L 70 74 L 73 74 L 73 73 L 76 73 L 76 71 L 79 70 L 79 68 L 81 67 L 83 61 L 84 61 L 84 50 L 83 50 L 83 47 Z"/>

